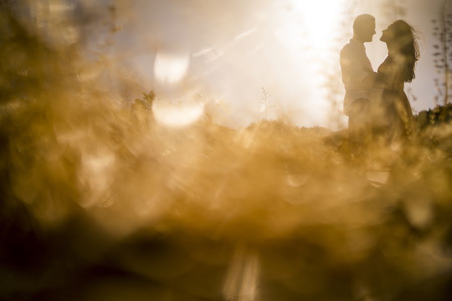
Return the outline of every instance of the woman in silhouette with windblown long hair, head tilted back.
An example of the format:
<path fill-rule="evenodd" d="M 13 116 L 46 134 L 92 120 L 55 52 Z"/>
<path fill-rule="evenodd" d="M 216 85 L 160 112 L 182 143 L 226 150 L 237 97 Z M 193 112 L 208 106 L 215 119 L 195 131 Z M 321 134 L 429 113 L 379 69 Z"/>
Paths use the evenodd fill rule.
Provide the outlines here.
<path fill-rule="evenodd" d="M 419 59 L 418 34 L 411 25 L 397 20 L 383 31 L 388 56 L 378 67 L 371 92 L 373 123 L 389 142 L 408 137 L 413 131 L 413 113 L 404 84 L 411 82 Z"/>

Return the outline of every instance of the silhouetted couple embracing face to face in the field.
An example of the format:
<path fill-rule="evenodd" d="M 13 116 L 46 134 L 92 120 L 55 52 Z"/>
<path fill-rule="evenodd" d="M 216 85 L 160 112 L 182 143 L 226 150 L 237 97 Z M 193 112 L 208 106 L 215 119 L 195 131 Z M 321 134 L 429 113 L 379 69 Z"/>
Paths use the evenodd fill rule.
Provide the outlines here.
<path fill-rule="evenodd" d="M 414 78 L 419 59 L 415 30 L 398 20 L 383 31 L 388 56 L 374 72 L 364 43 L 372 42 L 375 18 L 360 15 L 353 23 L 353 39 L 341 51 L 342 80 L 346 89 L 344 114 L 349 116 L 349 144 L 352 153 L 369 139 L 400 141 L 413 130 L 413 113 L 403 91 Z"/>

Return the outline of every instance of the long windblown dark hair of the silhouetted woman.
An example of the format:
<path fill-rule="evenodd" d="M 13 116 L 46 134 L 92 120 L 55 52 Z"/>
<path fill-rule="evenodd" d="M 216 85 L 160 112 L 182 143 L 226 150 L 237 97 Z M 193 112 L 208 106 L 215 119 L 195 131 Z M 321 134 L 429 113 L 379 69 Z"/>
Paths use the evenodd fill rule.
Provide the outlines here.
<path fill-rule="evenodd" d="M 406 21 L 397 20 L 390 25 L 392 27 L 394 38 L 390 42 L 393 44 L 406 59 L 406 72 L 404 81 L 411 82 L 415 78 L 414 68 L 419 60 L 420 34 Z"/>

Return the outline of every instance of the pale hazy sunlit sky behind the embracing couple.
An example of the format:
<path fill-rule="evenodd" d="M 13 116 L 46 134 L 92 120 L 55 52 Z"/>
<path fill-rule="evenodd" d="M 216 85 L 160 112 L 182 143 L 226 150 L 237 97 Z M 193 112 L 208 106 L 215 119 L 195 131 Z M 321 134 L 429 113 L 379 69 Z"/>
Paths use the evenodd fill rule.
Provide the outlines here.
<path fill-rule="evenodd" d="M 90 2 L 82 1 L 86 7 Z M 337 128 L 344 95 L 338 52 L 351 38 L 355 16 L 372 14 L 377 34 L 366 44 L 374 70 L 384 60 L 381 31 L 395 21 L 386 0 L 136 0 L 115 1 L 114 56 L 131 70 L 144 90 L 155 90 L 165 103 L 203 102 L 223 125 L 240 128 L 264 118 L 259 104 L 268 97 L 268 118 L 298 126 Z M 393 1 L 394 2 L 394 1 Z M 103 4 L 109 3 L 103 1 Z M 434 106 L 431 19 L 441 0 L 399 0 L 403 19 L 423 33 L 416 79 L 406 84 L 414 111 Z M 337 87 L 337 103 L 325 95 L 325 72 Z M 199 95 L 201 95 L 199 97 Z M 274 105 L 274 106 L 273 106 Z M 333 112 L 333 113 L 331 113 Z"/>

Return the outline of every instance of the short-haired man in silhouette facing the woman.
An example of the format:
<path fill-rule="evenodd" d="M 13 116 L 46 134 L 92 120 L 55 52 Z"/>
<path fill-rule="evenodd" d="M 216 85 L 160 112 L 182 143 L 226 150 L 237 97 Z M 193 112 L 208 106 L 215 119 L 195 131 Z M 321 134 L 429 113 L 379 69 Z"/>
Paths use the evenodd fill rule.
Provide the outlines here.
<path fill-rule="evenodd" d="M 369 92 L 376 73 L 364 43 L 372 42 L 374 35 L 375 18 L 360 15 L 353 23 L 353 38 L 341 50 L 342 81 L 346 89 L 344 114 L 349 116 L 349 145 L 354 155 L 360 153 L 369 126 Z"/>

